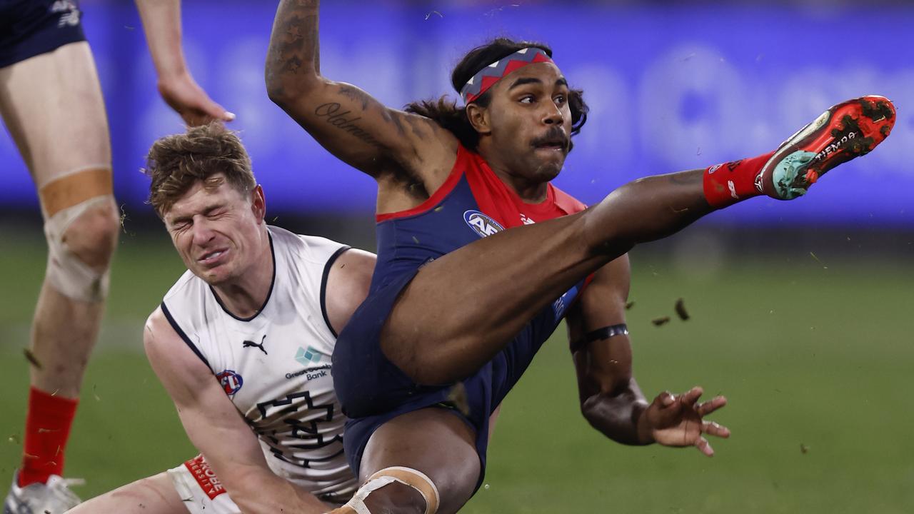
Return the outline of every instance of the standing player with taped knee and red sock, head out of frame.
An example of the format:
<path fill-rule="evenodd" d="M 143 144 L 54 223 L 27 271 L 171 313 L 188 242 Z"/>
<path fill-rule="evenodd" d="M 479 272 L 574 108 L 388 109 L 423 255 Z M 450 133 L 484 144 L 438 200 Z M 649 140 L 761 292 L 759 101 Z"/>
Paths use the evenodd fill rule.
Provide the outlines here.
<path fill-rule="evenodd" d="M 174 41 L 173 11 L 154 0 L 138 3 L 147 36 Z M 37 187 L 48 240 L 30 345 L 37 364 L 23 457 L 5 513 L 58 514 L 79 502 L 60 475 L 120 228 L 108 122 L 81 16 L 77 0 L 0 1 L 0 113 Z M 157 67 L 160 89 L 176 110 L 230 117 L 186 68 L 177 72 L 180 53 L 159 53 L 170 63 Z"/>

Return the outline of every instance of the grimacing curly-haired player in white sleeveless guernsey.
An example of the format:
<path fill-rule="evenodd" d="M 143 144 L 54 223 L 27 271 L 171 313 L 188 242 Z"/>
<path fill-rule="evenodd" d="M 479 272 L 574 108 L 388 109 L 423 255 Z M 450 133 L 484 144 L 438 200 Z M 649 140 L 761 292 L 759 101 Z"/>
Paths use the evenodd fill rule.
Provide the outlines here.
<path fill-rule="evenodd" d="M 345 502 L 357 482 L 330 357 L 374 256 L 268 226 L 248 155 L 219 124 L 158 140 L 146 173 L 187 272 L 143 342 L 205 459 L 71 512 L 237 514 L 292 502 L 316 513 Z"/>

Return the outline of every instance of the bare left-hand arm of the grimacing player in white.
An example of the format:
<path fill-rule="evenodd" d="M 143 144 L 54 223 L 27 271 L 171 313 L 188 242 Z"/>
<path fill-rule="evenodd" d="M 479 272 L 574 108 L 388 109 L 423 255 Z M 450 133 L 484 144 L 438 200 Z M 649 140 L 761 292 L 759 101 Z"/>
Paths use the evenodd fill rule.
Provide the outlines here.
<path fill-rule="evenodd" d="M 257 436 L 212 371 L 175 333 L 161 309 L 143 330 L 146 355 L 175 402 L 187 436 L 244 512 L 318 514 L 327 507 L 267 466 Z"/>

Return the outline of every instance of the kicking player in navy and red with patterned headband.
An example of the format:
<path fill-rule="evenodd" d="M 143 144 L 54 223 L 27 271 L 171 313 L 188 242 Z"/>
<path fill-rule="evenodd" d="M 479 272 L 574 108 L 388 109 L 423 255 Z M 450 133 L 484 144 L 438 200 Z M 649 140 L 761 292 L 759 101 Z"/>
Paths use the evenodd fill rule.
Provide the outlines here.
<path fill-rule="evenodd" d="M 334 352 L 363 482 L 340 512 L 460 509 L 483 477 L 489 413 L 563 317 L 591 425 L 710 455 L 704 435 L 728 431 L 703 417 L 724 399 L 697 403 L 695 389 L 648 403 L 632 378 L 626 252 L 746 198 L 802 195 L 885 139 L 891 103 L 840 103 L 774 152 L 644 178 L 584 209 L 550 184 L 587 107 L 549 48 L 475 48 L 452 75 L 462 108 L 400 112 L 321 75 L 318 4 L 281 2 L 266 80 L 324 148 L 377 180 L 377 267 Z M 619 123 L 637 115 L 617 102 Z"/>

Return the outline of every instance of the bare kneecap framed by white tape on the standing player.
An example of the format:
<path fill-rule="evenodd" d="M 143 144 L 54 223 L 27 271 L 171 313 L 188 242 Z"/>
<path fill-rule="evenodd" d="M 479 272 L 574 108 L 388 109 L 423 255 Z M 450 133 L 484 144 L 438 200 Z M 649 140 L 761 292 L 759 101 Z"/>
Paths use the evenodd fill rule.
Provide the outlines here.
<path fill-rule="evenodd" d="M 63 242 L 81 262 L 96 270 L 111 265 L 121 219 L 113 202 L 93 206 L 70 223 Z"/>

